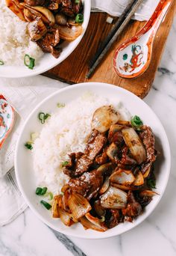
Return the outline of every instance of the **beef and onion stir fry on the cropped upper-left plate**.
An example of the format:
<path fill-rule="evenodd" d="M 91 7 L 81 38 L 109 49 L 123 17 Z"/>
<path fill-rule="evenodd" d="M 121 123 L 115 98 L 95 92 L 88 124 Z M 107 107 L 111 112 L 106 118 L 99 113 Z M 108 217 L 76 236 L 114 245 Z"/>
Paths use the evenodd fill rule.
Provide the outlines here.
<path fill-rule="evenodd" d="M 7 7 L 25 22 L 28 34 L 43 52 L 60 56 L 60 43 L 75 40 L 84 21 L 81 0 L 6 0 Z"/>

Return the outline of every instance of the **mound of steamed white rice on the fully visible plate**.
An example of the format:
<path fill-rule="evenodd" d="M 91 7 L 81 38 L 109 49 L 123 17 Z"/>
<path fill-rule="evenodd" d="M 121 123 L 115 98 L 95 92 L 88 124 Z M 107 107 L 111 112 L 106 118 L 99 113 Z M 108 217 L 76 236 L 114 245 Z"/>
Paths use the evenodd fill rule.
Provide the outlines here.
<path fill-rule="evenodd" d="M 131 118 L 121 103 L 90 93 L 51 114 L 32 150 L 37 185 L 47 186 L 54 193 L 60 192 L 69 180 L 63 174 L 61 163 L 68 159 L 69 153 L 84 151 L 91 132 L 92 115 L 104 105 L 113 105 L 123 120 Z"/>

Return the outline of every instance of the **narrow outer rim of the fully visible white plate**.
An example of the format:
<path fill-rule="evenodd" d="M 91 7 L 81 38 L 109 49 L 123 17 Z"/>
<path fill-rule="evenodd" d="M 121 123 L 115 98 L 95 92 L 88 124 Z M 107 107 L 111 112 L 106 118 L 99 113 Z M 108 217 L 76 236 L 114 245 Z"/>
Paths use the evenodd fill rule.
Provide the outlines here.
<path fill-rule="evenodd" d="M 160 200 L 161 198 L 163 198 L 163 195 L 166 191 L 166 186 L 168 184 L 168 181 L 169 181 L 169 176 L 170 176 L 170 172 L 171 172 L 171 148 L 170 148 L 170 145 L 169 145 L 169 139 L 168 139 L 168 136 L 166 134 L 166 131 L 163 127 L 163 124 L 161 123 L 160 119 L 157 117 L 157 115 L 155 114 L 155 112 L 151 109 L 150 106 L 148 106 L 147 103 L 145 103 L 142 99 L 140 99 L 139 97 L 137 97 L 135 94 L 131 93 L 131 91 L 128 91 L 124 88 L 120 88 L 116 85 L 111 85 L 111 84 L 108 84 L 108 83 L 103 83 L 103 82 L 83 82 L 83 83 L 79 83 L 79 84 L 75 84 L 75 85 L 69 85 L 69 86 L 66 86 L 65 88 L 61 88 L 57 91 L 54 91 L 54 93 L 52 94 L 49 94 L 48 97 L 45 97 L 45 99 L 43 99 L 39 104 L 37 104 L 37 106 L 33 109 L 33 111 L 30 113 L 30 115 L 28 115 L 28 118 L 26 118 L 25 120 L 25 123 L 22 125 L 22 128 L 19 132 L 19 138 L 17 140 L 17 143 L 16 143 L 16 150 L 15 150 L 15 157 L 14 157 L 14 166 L 15 166 L 15 173 L 16 173 L 16 180 L 17 180 L 17 183 L 18 183 L 18 186 L 19 186 L 19 190 L 20 192 L 22 192 L 22 196 L 23 198 L 25 198 L 25 201 L 26 203 L 28 204 L 28 207 L 30 207 L 30 209 L 32 210 L 32 212 L 35 214 L 35 216 L 37 216 L 43 223 L 45 223 L 46 225 L 48 225 L 48 227 L 51 227 L 53 228 L 55 231 L 58 231 L 60 233 L 63 233 L 63 234 L 66 234 L 70 237 L 77 237 L 77 238 L 81 238 L 81 239 L 88 239 L 88 240 L 98 240 L 98 239 L 106 239 L 106 238 L 110 238 L 110 237 L 116 237 L 117 235 L 119 234 L 124 234 L 125 232 L 127 231 L 130 231 L 132 230 L 133 228 L 136 228 L 140 223 L 144 222 L 145 219 L 141 219 L 139 222 L 135 223 L 133 225 L 133 227 L 131 228 L 129 226 L 129 228 L 126 228 L 125 231 L 122 231 L 122 232 L 119 232 L 118 234 L 107 234 L 106 232 L 104 233 L 101 233 L 101 232 L 96 232 L 95 231 L 95 237 L 92 235 L 92 237 L 83 237 L 82 235 L 79 235 L 75 232 L 75 234 L 70 234 L 69 230 L 67 231 L 60 231 L 60 229 L 58 227 L 55 227 L 54 225 L 52 225 L 51 223 L 49 223 L 47 220 L 45 220 L 45 218 L 40 215 L 40 213 L 37 212 L 37 210 L 35 209 L 35 207 L 33 206 L 33 204 L 30 203 L 30 201 L 28 201 L 28 197 L 25 195 L 25 191 L 24 189 L 22 188 L 22 185 L 20 183 L 20 178 L 19 178 L 19 173 L 17 171 L 17 153 L 18 153 L 18 148 L 19 148 L 19 143 L 20 143 L 20 138 L 22 137 L 22 132 L 24 131 L 25 129 L 25 126 L 26 124 L 28 123 L 28 120 L 31 118 L 31 116 L 34 114 L 34 112 L 40 108 L 40 106 L 43 105 L 43 103 L 47 102 L 49 99 L 51 99 L 52 97 L 54 97 L 55 95 L 57 94 L 60 94 L 60 92 L 63 92 L 63 91 L 69 91 L 70 88 L 79 88 L 79 87 L 84 87 L 84 86 L 87 86 L 87 85 L 94 85 L 94 86 L 103 86 L 103 87 L 109 87 L 111 86 L 112 88 L 117 88 L 117 91 L 123 91 L 125 92 L 125 94 L 129 94 L 131 97 L 133 98 L 136 98 L 138 99 L 139 101 L 142 102 L 142 104 L 144 104 L 147 108 L 149 108 L 151 110 L 151 112 L 153 113 L 154 115 L 154 118 L 156 118 L 157 122 L 160 124 L 160 128 L 163 129 L 163 135 L 165 135 L 165 141 L 166 141 L 166 151 L 168 153 L 168 156 L 167 156 L 167 165 L 168 165 L 168 171 L 166 173 L 166 177 L 165 177 L 165 184 L 164 184 L 164 187 L 163 187 L 163 190 L 162 190 L 162 194 L 160 194 L 160 198 L 158 199 L 157 203 L 154 205 L 153 208 L 150 208 L 148 210 L 148 212 L 146 213 L 145 215 L 145 219 L 148 218 L 148 216 L 151 215 L 152 212 L 154 212 L 154 209 L 158 206 L 158 204 L 160 203 Z M 101 236 L 98 236 L 98 234 L 101 233 Z M 104 236 L 102 235 L 104 234 Z"/>

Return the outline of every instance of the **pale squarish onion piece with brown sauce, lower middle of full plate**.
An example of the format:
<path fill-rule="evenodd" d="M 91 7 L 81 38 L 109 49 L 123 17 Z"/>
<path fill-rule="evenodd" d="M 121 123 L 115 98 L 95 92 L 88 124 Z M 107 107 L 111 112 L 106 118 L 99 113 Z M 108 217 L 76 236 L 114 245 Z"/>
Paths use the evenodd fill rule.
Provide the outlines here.
<path fill-rule="evenodd" d="M 110 209 L 123 209 L 127 204 L 127 193 L 110 186 L 104 195 L 101 195 L 101 206 Z"/>

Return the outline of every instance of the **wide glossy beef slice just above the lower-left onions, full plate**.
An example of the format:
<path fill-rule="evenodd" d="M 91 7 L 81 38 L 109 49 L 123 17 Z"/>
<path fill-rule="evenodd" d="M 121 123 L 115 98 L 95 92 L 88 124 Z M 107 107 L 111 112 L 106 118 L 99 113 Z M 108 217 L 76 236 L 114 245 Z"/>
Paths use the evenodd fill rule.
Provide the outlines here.
<path fill-rule="evenodd" d="M 69 180 L 69 188 L 72 192 L 77 192 L 88 200 L 98 194 L 98 190 L 103 184 L 103 176 L 100 171 L 94 170 L 84 172 L 81 177 Z"/>

